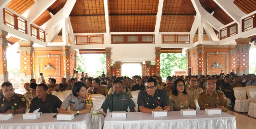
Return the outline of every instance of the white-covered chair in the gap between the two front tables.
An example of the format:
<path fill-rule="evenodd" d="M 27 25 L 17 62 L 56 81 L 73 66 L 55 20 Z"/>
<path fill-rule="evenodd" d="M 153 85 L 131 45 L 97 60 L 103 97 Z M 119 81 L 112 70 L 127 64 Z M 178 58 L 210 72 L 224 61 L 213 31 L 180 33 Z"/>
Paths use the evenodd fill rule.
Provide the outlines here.
<path fill-rule="evenodd" d="M 92 95 L 92 124 L 94 129 L 102 129 L 102 126 L 104 124 L 105 117 L 101 113 L 101 105 L 104 102 L 105 98 L 106 97 L 101 94 Z"/>

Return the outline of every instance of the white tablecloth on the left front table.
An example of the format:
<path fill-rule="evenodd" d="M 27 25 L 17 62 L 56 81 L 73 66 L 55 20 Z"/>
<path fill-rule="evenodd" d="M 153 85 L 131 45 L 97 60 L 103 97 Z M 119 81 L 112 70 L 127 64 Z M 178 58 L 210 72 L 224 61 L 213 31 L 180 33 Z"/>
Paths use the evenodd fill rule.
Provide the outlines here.
<path fill-rule="evenodd" d="M 90 113 L 75 115 L 71 121 L 57 121 L 56 113 L 41 114 L 39 119 L 22 119 L 14 114 L 12 119 L 0 120 L 0 129 L 93 129 Z"/>

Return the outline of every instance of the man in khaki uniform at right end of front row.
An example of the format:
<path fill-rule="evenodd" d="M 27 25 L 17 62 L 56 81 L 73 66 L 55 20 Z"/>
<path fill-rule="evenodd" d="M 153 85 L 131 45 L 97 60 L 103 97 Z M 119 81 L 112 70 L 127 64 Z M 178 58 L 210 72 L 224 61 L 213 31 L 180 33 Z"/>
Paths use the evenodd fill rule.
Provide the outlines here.
<path fill-rule="evenodd" d="M 206 79 L 206 90 L 198 94 L 198 104 L 201 110 L 218 108 L 223 112 L 228 111 L 228 101 L 222 91 L 215 90 L 216 83 L 214 79 Z"/>

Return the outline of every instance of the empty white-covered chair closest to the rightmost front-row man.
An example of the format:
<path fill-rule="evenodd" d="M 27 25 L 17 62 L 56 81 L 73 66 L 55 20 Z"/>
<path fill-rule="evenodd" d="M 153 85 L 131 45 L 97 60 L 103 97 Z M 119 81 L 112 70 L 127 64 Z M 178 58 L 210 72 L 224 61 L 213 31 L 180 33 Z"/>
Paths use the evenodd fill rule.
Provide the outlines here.
<path fill-rule="evenodd" d="M 236 97 L 236 103 L 234 110 L 239 112 L 248 112 L 250 106 L 250 100 L 246 99 L 245 87 L 234 87 L 234 95 Z"/>

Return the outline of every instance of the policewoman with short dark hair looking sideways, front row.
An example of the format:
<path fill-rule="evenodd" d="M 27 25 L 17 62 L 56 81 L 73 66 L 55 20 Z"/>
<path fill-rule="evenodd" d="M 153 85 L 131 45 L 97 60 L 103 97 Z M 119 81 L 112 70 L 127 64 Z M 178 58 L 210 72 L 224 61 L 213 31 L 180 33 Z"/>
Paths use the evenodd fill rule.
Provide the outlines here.
<path fill-rule="evenodd" d="M 58 112 L 74 115 L 85 114 L 90 113 L 92 106 L 92 95 L 86 93 L 86 85 L 78 81 L 74 83 L 72 93 L 65 98 Z"/>

